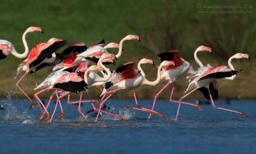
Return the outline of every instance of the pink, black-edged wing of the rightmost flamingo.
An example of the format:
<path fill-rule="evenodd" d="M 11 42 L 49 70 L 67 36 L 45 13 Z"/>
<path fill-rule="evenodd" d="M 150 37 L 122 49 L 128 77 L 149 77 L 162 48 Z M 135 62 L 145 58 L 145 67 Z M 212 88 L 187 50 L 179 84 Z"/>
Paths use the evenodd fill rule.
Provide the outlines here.
<path fill-rule="evenodd" d="M 227 66 L 216 66 L 206 70 L 198 79 L 198 81 L 202 81 L 204 79 L 221 79 L 225 77 L 231 77 L 237 73 L 238 72 L 236 70 L 231 70 Z"/>

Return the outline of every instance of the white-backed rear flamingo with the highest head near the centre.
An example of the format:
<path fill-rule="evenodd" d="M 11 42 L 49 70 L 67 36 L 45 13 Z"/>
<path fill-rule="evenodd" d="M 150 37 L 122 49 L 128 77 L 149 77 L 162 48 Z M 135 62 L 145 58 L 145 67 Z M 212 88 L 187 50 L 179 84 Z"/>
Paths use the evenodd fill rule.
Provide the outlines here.
<path fill-rule="evenodd" d="M 125 36 L 125 38 L 123 38 L 120 43 L 119 43 L 119 50 L 118 53 L 116 54 L 116 59 L 119 58 L 122 54 L 122 47 L 123 47 L 123 43 L 125 40 L 139 40 L 140 41 L 140 37 L 136 36 L 136 35 L 127 35 Z M 104 53 L 108 53 L 108 51 L 104 48 L 104 47 L 100 47 L 100 46 L 96 46 L 93 48 L 90 48 L 86 51 L 84 51 L 83 53 L 77 55 L 77 58 L 75 59 L 73 64 L 76 63 L 81 63 L 83 61 L 94 61 L 95 63 L 98 62 L 100 56 Z"/>

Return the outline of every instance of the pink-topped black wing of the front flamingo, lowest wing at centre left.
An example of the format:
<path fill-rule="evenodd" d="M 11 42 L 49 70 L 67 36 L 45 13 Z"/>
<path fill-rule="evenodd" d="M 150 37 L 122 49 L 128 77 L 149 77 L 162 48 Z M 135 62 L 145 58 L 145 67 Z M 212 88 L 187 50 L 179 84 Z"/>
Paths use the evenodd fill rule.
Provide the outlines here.
<path fill-rule="evenodd" d="M 72 93 L 79 93 L 87 89 L 87 84 L 84 82 L 83 77 L 77 73 L 68 73 L 62 75 L 54 84 L 53 88 L 60 88 Z"/>

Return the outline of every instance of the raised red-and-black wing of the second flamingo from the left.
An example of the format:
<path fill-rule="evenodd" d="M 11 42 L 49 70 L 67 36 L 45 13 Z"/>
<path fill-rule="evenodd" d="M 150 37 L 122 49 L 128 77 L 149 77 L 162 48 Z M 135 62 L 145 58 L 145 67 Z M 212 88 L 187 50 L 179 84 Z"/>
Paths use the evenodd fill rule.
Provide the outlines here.
<path fill-rule="evenodd" d="M 67 41 L 47 42 L 36 45 L 28 55 L 29 68 L 38 65 L 45 58 L 51 58 L 52 53 L 66 45 Z"/>

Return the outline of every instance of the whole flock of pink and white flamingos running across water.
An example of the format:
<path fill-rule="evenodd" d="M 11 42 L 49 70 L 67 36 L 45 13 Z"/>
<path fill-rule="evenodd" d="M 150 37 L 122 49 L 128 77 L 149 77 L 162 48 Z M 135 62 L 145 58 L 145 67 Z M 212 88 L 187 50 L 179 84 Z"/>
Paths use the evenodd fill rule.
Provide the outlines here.
<path fill-rule="evenodd" d="M 160 112 L 154 111 L 154 106 L 156 105 L 157 96 L 159 96 L 161 92 L 171 83 L 173 83 L 173 86 L 170 95 L 170 102 L 179 104 L 175 120 L 177 120 L 179 115 L 180 104 L 192 105 L 197 107 L 201 111 L 204 111 L 199 105 L 182 102 L 182 100 L 186 98 L 186 96 L 190 95 L 197 89 L 199 91 L 202 91 L 205 98 L 211 100 L 214 109 L 235 112 L 248 118 L 248 116 L 246 116 L 246 114 L 244 114 L 243 112 L 237 112 L 230 109 L 216 107 L 213 101 L 214 98 L 218 98 L 216 79 L 222 79 L 225 81 L 234 80 L 238 72 L 235 70 L 234 66 L 232 66 L 232 59 L 250 59 L 248 54 L 235 54 L 228 59 L 228 66 L 212 67 L 209 64 L 204 66 L 197 58 L 196 54 L 203 51 L 207 51 L 212 54 L 212 50 L 209 47 L 200 46 L 195 50 L 194 53 L 195 61 L 199 65 L 198 70 L 195 71 L 193 70 L 192 66 L 189 64 L 188 61 L 180 58 L 179 50 L 163 52 L 157 55 L 161 58 L 161 64 L 158 66 L 157 69 L 156 80 L 148 81 L 145 73 L 141 69 L 141 65 L 154 65 L 154 62 L 150 59 L 141 59 L 138 63 L 137 70 L 134 69 L 135 62 L 129 62 L 125 63 L 124 65 L 118 66 L 116 70 L 112 72 L 109 70 L 109 68 L 106 67 L 106 65 L 114 63 L 113 59 L 120 58 L 120 56 L 122 55 L 122 46 L 126 40 L 140 41 L 139 36 L 127 35 L 120 41 L 120 43 L 108 43 L 107 45 L 105 45 L 104 40 L 102 40 L 102 42 L 89 48 L 87 48 L 83 42 L 76 43 L 63 50 L 61 54 L 58 54 L 56 53 L 56 51 L 66 45 L 66 40 L 51 38 L 47 43 L 39 43 L 29 52 L 29 47 L 26 42 L 26 35 L 35 31 L 43 33 L 40 27 L 33 26 L 29 27 L 24 32 L 22 36 L 22 42 L 24 43 L 25 51 L 23 54 L 19 54 L 19 52 L 17 52 L 13 47 L 12 43 L 6 40 L 0 40 L 0 59 L 6 58 L 6 56 L 8 56 L 8 54 L 10 53 L 17 58 L 27 57 L 27 59 L 25 59 L 17 69 L 17 76 L 15 77 L 15 79 L 17 79 L 20 75 L 22 75 L 22 77 L 20 77 L 16 86 L 28 98 L 28 100 L 30 101 L 29 108 L 31 108 L 31 106 L 33 105 L 33 101 L 31 100 L 31 98 L 29 98 L 28 95 L 26 95 L 22 88 L 19 87 L 19 83 L 27 74 L 34 73 L 36 86 L 35 90 L 40 89 L 40 91 L 36 92 L 34 95 L 35 100 L 38 102 L 40 110 L 42 111 L 40 122 L 48 121 L 51 118 L 49 120 L 49 123 L 51 123 L 54 112 L 56 111 L 56 107 L 58 105 L 60 105 L 61 109 L 61 116 L 59 116 L 58 119 L 62 118 L 64 116 L 64 112 L 61 107 L 60 99 L 67 95 L 67 103 L 78 104 L 78 111 L 81 113 L 81 115 L 83 115 L 85 119 L 87 118 L 81 111 L 81 102 L 91 102 L 93 109 L 88 112 L 98 111 L 95 121 L 97 121 L 101 112 L 110 114 L 111 116 L 115 116 L 122 121 L 127 121 L 120 116 L 116 116 L 115 114 L 111 114 L 102 110 L 102 105 L 104 105 L 104 102 L 106 102 L 106 100 L 108 100 L 108 98 L 110 98 L 114 93 L 116 93 L 116 91 L 121 91 L 124 99 L 125 108 L 148 112 L 148 118 L 150 118 L 152 114 L 164 116 Z M 109 48 L 117 48 L 118 54 L 109 54 L 106 50 Z M 54 66 L 54 68 L 52 69 L 53 71 L 45 79 L 44 82 L 38 85 L 36 82 L 36 71 L 44 68 L 45 66 Z M 100 73 L 100 75 L 98 73 Z M 185 75 L 188 75 L 187 78 L 189 78 L 188 89 L 186 89 L 185 91 L 185 93 L 188 93 L 182 96 L 179 101 L 173 100 L 172 96 L 175 84 L 180 77 L 184 77 Z M 159 82 L 164 81 L 167 81 L 167 83 L 159 91 L 159 93 L 154 96 L 152 109 L 140 107 L 136 99 L 135 89 L 142 85 L 156 86 Z M 102 91 L 102 94 L 100 95 L 102 96 L 102 98 L 100 101 L 92 100 L 92 98 L 90 97 L 89 89 L 93 86 L 97 86 L 97 88 Z M 104 89 L 101 89 L 100 86 L 104 86 Z M 54 93 L 52 93 L 52 95 L 49 97 L 49 102 L 45 107 L 38 95 L 40 93 L 43 93 L 44 91 L 49 91 L 49 89 L 54 89 Z M 124 98 L 124 89 L 131 90 L 133 92 L 136 107 L 127 106 Z M 87 93 L 89 98 L 88 100 L 81 99 L 83 92 Z M 71 93 L 80 93 L 79 101 L 70 102 Z M 49 106 L 54 95 L 56 95 L 57 97 L 57 102 L 51 116 L 47 111 L 47 107 Z M 97 105 L 94 104 L 99 104 L 99 109 L 97 109 Z M 88 112 L 86 112 L 86 114 Z M 46 118 L 45 113 L 47 114 Z"/>

